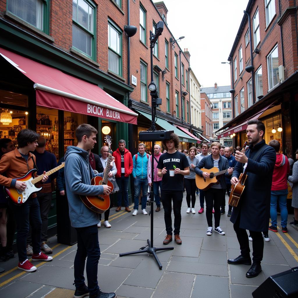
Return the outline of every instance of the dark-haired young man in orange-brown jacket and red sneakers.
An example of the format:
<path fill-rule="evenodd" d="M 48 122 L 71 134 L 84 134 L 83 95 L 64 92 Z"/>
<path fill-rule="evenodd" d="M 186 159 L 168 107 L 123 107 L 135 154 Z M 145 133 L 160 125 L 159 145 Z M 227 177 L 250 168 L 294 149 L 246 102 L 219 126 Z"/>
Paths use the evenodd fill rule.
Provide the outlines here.
<path fill-rule="evenodd" d="M 35 156 L 30 153 L 34 151 L 39 134 L 31 129 L 23 129 L 18 133 L 18 149 L 4 154 L 0 162 L 0 185 L 15 187 L 19 191 L 24 191 L 27 184 L 15 178 L 23 177 L 31 169 L 36 168 Z M 48 176 L 43 174 L 41 182 L 48 180 Z M 5 176 L 3 176 L 5 174 Z M 36 193 L 33 193 L 24 204 L 19 206 L 9 201 L 9 206 L 15 215 L 17 224 L 17 248 L 19 263 L 18 268 L 24 271 L 36 271 L 36 267 L 27 259 L 26 243 L 29 232 L 29 218 L 32 227 L 32 261 L 51 261 L 52 257 L 41 252 L 41 216 Z"/>

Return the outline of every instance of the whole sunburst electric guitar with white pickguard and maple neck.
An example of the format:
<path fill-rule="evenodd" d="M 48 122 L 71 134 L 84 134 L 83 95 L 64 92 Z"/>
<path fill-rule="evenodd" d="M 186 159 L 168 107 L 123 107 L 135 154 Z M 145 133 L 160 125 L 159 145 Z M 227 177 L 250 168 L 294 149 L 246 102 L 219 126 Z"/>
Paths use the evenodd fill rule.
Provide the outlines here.
<path fill-rule="evenodd" d="M 49 176 L 57 172 L 63 167 L 64 167 L 64 162 L 60 164 L 60 166 L 55 167 L 54 169 L 46 172 L 46 175 Z M 4 192 L 6 193 L 7 197 L 13 201 L 14 204 L 22 205 L 28 200 L 28 198 L 30 197 L 30 195 L 32 195 L 32 193 L 37 193 L 38 191 L 42 190 L 42 187 L 36 187 L 35 184 L 41 181 L 44 176 L 40 175 L 40 176 L 34 177 L 34 173 L 36 171 L 37 171 L 36 169 L 32 169 L 25 176 L 21 178 L 16 178 L 17 181 L 22 181 L 26 183 L 27 187 L 23 191 L 18 190 L 15 187 L 4 186 Z"/>

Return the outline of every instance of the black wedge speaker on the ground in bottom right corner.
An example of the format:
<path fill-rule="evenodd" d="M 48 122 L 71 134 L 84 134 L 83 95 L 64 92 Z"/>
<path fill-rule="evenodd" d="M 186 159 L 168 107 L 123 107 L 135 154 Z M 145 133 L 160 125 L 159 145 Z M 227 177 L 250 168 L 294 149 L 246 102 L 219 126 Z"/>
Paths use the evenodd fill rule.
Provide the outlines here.
<path fill-rule="evenodd" d="M 269 276 L 256 290 L 254 298 L 297 298 L 298 267 Z"/>

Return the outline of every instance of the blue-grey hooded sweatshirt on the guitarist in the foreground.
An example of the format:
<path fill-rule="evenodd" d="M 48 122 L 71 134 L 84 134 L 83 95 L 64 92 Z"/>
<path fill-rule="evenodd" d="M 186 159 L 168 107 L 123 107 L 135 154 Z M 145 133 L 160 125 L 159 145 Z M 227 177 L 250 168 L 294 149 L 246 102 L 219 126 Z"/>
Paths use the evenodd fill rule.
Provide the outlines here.
<path fill-rule="evenodd" d="M 88 152 L 68 146 L 65 153 L 65 186 L 69 205 L 69 218 L 74 228 L 92 226 L 99 222 L 99 214 L 85 206 L 79 195 L 103 193 L 102 185 L 91 185 L 94 171 L 89 164 Z M 103 173 L 97 176 L 103 176 Z"/>

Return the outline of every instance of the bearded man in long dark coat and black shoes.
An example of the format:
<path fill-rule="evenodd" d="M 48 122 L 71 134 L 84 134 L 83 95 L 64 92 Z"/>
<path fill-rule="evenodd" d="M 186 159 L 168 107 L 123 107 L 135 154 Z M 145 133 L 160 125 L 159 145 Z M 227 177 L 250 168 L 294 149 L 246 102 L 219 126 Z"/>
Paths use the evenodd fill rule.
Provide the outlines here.
<path fill-rule="evenodd" d="M 263 136 L 265 125 L 259 120 L 247 122 L 246 135 L 249 148 L 245 154 L 236 151 L 235 166 L 231 184 L 238 182 L 240 173 L 244 167 L 247 171 L 245 189 L 238 206 L 233 208 L 231 221 L 240 244 L 241 254 L 235 259 L 229 259 L 230 264 L 251 265 L 249 240 L 246 230 L 252 237 L 252 266 L 246 273 L 246 277 L 256 277 L 261 271 L 263 259 L 264 240 L 262 231 L 268 228 L 270 217 L 270 195 L 274 164 L 276 160 L 275 150 L 266 145 Z"/>

